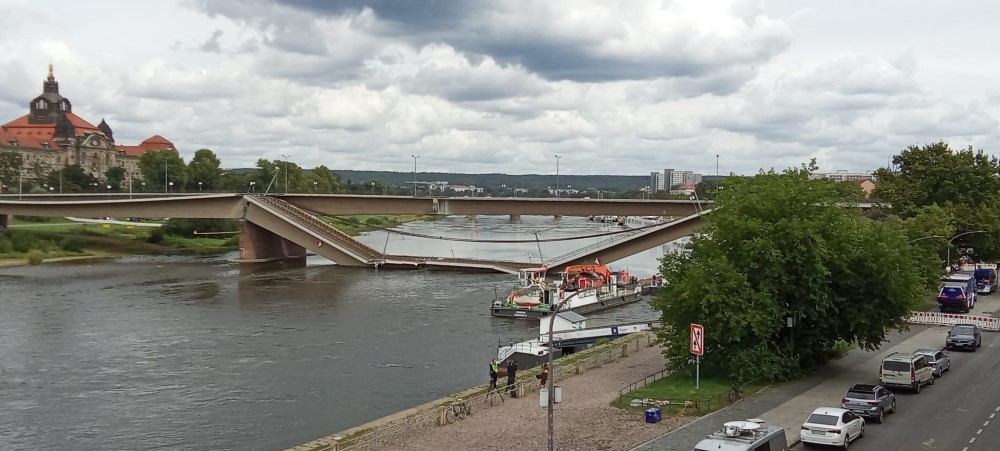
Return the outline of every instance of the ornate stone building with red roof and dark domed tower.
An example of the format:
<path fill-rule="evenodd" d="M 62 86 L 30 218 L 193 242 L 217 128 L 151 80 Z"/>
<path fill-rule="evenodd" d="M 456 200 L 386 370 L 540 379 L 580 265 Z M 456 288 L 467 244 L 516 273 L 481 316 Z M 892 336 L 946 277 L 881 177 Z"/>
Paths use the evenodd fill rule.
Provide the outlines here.
<path fill-rule="evenodd" d="M 94 126 L 73 113 L 73 104 L 59 94 L 51 64 L 42 82 L 42 94 L 28 104 L 28 114 L 0 125 L 0 151 L 20 154 L 23 177 L 28 180 L 41 180 L 71 165 L 80 165 L 99 180 L 114 167 L 125 169 L 126 180 L 141 179 L 142 154 L 173 148 L 174 144 L 160 135 L 136 146 L 115 143 L 114 133 L 103 119 Z"/>

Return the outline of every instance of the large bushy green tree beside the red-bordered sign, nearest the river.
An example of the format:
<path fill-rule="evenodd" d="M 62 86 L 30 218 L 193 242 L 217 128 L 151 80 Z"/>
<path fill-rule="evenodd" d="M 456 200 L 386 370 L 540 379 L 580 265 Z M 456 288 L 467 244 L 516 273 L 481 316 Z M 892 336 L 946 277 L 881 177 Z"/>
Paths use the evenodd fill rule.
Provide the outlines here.
<path fill-rule="evenodd" d="M 838 340 L 875 349 L 906 326 L 929 287 L 903 228 L 845 206 L 814 169 L 728 178 L 690 253 L 663 258 L 654 306 L 675 368 L 690 323 L 705 326 L 706 370 L 741 380 L 785 379 Z"/>

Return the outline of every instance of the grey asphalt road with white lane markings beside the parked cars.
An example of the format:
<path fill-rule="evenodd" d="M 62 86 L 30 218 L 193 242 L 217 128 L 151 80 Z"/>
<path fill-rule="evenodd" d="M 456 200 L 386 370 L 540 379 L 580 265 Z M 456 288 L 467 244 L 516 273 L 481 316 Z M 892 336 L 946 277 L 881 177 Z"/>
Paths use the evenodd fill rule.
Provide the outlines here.
<path fill-rule="evenodd" d="M 984 333 L 983 346 L 975 353 L 948 354 L 951 371 L 933 386 L 924 386 L 919 395 L 894 390 L 898 413 L 889 415 L 884 424 L 869 421 L 865 436 L 852 442 L 851 449 L 1000 449 L 1000 334 Z M 801 450 L 803 445 L 792 449 Z"/>

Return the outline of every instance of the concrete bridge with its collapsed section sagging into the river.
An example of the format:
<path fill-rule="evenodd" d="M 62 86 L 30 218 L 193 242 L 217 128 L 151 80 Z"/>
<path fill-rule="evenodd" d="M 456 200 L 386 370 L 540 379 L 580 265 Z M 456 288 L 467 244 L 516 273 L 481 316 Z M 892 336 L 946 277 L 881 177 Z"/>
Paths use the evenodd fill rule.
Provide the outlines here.
<path fill-rule="evenodd" d="M 240 259 L 305 258 L 314 252 L 346 266 L 499 271 L 516 273 L 538 263 L 467 258 L 388 255 L 366 246 L 318 216 L 441 214 L 547 216 L 659 216 L 680 218 L 629 230 L 582 249 L 546 260 L 559 270 L 600 257 L 613 262 L 690 235 L 704 225 L 710 202 L 620 199 L 420 198 L 315 194 L 207 195 L 7 195 L 0 215 L 79 217 L 232 218 L 239 220 Z M 2 224 L 2 223 L 0 223 Z"/>

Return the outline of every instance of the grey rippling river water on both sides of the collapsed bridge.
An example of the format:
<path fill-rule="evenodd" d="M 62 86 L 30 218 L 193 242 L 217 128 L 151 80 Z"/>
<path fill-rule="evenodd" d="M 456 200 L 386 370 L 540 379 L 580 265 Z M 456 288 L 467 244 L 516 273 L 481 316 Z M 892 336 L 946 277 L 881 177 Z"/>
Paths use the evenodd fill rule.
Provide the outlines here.
<path fill-rule="evenodd" d="M 478 241 L 609 226 L 495 216 L 399 229 Z M 390 254 L 520 261 L 598 240 L 359 239 Z M 648 276 L 662 252 L 611 266 Z M 0 449 L 286 448 L 485 383 L 499 343 L 537 335 L 537 322 L 489 316 L 511 275 L 235 257 L 0 269 Z M 643 302 L 593 313 L 588 325 L 656 317 Z"/>

